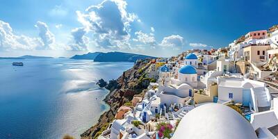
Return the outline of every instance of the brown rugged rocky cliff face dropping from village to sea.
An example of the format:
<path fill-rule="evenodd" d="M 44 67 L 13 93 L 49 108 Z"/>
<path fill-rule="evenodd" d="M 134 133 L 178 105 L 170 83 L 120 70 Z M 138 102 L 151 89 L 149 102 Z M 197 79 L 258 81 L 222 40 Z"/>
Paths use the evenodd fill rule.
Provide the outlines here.
<path fill-rule="evenodd" d="M 123 72 L 116 80 L 118 84 L 111 88 L 110 93 L 104 99 L 111 106 L 110 110 L 101 115 L 95 126 L 81 134 L 81 138 L 89 139 L 98 136 L 105 129 L 101 129 L 101 127 L 106 127 L 108 123 L 114 120 L 117 109 L 125 102 L 131 101 L 133 95 L 138 95 L 145 89 L 146 85 L 142 84 L 139 79 L 141 76 L 145 76 L 149 61 L 150 59 L 139 60 L 131 69 Z"/>

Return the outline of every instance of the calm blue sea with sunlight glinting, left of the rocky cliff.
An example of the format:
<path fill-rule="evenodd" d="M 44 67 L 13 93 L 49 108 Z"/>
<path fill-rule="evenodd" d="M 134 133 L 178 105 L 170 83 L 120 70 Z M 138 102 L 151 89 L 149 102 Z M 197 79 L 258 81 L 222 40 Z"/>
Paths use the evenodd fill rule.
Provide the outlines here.
<path fill-rule="evenodd" d="M 22 61 L 23 67 L 12 66 Z M 117 79 L 133 63 L 0 60 L 0 138 L 79 138 L 108 109 L 97 79 Z"/>

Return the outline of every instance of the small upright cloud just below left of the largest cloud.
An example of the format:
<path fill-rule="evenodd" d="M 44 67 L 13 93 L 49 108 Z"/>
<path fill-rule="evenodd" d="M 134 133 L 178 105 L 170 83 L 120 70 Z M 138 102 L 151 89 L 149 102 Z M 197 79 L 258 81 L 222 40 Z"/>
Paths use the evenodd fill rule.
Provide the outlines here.
<path fill-rule="evenodd" d="M 74 40 L 73 44 L 70 44 L 72 51 L 86 51 L 88 38 L 85 37 L 86 31 L 84 28 L 74 28 L 72 30 L 72 38 Z"/>

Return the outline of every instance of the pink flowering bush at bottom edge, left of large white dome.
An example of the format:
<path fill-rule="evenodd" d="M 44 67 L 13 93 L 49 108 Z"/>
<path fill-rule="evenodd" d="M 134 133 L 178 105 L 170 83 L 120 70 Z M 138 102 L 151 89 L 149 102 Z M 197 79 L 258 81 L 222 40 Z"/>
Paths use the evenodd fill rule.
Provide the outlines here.
<path fill-rule="evenodd" d="M 156 125 L 158 129 L 158 137 L 159 138 L 171 138 L 170 133 L 172 133 L 173 126 L 172 124 L 161 122 Z"/>

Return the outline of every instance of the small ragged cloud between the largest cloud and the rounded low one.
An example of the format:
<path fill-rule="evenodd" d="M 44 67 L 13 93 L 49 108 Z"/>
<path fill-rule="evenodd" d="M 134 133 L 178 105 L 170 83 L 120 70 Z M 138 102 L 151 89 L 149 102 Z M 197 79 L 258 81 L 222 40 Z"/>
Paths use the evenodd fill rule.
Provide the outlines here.
<path fill-rule="evenodd" d="M 142 33 L 142 31 L 136 31 L 135 35 L 137 35 L 136 39 L 133 39 L 135 42 L 142 42 L 144 44 L 155 45 L 156 39 L 154 38 L 154 34 Z"/>

